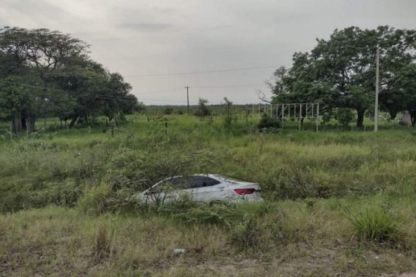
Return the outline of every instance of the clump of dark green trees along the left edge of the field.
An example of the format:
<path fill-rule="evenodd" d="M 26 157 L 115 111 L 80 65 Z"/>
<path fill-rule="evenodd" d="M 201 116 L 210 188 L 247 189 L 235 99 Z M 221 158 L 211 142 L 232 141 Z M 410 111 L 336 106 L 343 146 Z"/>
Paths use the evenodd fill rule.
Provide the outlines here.
<path fill-rule="evenodd" d="M 88 55 L 89 45 L 48 29 L 0 29 L 0 119 L 12 132 L 33 132 L 38 118 L 73 127 L 96 116 L 107 122 L 139 107 L 131 86 Z"/>

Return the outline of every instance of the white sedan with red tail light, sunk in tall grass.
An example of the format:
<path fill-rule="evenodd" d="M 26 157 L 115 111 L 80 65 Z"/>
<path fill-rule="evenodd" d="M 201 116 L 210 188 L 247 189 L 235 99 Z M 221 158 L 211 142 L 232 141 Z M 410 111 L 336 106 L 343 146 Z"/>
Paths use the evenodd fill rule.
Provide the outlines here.
<path fill-rule="evenodd" d="M 169 177 L 138 193 L 135 198 L 146 203 L 166 203 L 181 195 L 188 195 L 197 202 L 263 201 L 259 184 L 214 174 Z"/>

